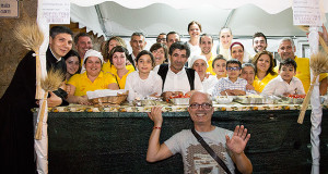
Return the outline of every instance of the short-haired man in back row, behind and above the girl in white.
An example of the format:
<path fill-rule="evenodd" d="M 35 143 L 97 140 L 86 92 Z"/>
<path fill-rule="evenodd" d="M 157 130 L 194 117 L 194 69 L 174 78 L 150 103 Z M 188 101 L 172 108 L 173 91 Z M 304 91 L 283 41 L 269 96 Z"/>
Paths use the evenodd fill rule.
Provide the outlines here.
<path fill-rule="evenodd" d="M 139 52 L 141 52 L 147 45 L 147 41 L 144 40 L 144 35 L 142 33 L 133 33 L 130 40 L 130 46 L 132 47 L 132 53 L 129 54 L 128 60 L 129 63 L 131 63 L 136 70 L 136 58 Z"/>

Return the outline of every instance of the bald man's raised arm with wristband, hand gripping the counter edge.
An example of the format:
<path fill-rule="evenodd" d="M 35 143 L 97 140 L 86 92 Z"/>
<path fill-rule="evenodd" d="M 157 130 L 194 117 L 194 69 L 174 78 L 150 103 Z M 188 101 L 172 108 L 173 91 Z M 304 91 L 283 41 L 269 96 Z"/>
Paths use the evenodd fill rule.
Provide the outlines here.
<path fill-rule="evenodd" d="M 154 122 L 153 132 L 149 138 L 147 151 L 147 161 L 156 162 L 172 156 L 172 152 L 165 144 L 160 145 L 160 135 L 163 123 L 162 107 L 153 107 L 148 116 Z"/>

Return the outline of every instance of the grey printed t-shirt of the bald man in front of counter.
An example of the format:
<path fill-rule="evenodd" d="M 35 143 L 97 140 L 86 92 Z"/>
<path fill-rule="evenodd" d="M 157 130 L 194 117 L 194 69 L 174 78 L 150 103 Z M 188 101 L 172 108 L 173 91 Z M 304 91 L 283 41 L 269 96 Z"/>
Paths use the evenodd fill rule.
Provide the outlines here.
<path fill-rule="evenodd" d="M 203 140 L 214 150 L 218 157 L 226 164 L 229 170 L 234 173 L 234 163 L 229 156 L 225 146 L 225 135 L 232 137 L 233 132 L 221 127 L 215 127 L 211 132 L 199 133 Z M 198 142 L 190 129 L 184 129 L 164 142 L 173 154 L 180 153 L 184 160 L 185 174 L 222 174 L 224 170 Z"/>

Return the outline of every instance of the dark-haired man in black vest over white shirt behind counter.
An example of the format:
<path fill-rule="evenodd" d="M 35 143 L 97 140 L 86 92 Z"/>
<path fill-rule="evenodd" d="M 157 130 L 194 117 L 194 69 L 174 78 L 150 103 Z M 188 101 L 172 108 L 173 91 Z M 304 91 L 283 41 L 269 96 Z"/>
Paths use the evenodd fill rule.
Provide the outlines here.
<path fill-rule="evenodd" d="M 196 90 L 202 90 L 201 80 L 195 70 L 185 67 L 190 55 L 187 44 L 177 41 L 169 47 L 169 65 L 160 65 L 157 74 L 163 80 L 163 98 L 169 96 L 191 95 Z"/>

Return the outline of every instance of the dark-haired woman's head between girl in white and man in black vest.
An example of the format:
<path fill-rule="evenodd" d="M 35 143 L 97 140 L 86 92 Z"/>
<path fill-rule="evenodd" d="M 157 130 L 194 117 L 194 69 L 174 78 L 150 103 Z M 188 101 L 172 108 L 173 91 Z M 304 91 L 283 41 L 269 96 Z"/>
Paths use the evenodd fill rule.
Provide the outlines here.
<path fill-rule="evenodd" d="M 168 60 L 167 47 L 164 44 L 156 42 L 152 45 L 150 51 L 155 58 L 155 66 L 160 66 Z"/>

